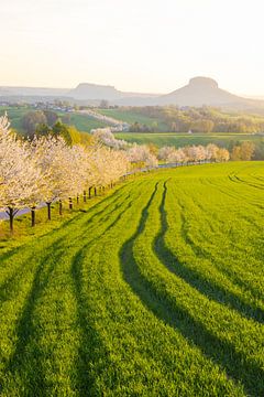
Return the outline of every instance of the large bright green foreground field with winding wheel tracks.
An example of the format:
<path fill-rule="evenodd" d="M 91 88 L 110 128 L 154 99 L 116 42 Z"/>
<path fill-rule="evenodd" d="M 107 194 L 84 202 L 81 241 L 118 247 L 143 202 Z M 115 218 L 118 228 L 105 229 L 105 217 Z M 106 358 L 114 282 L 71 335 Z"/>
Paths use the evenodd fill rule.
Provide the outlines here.
<path fill-rule="evenodd" d="M 263 162 L 160 170 L 6 245 L 1 395 L 263 396 Z"/>

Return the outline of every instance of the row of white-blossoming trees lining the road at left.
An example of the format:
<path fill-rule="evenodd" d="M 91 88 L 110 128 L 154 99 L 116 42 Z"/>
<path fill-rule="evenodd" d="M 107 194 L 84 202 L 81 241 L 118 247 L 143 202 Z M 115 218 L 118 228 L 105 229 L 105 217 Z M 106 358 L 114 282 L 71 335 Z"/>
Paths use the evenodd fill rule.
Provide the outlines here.
<path fill-rule="evenodd" d="M 4 210 L 13 230 L 13 218 L 20 208 L 29 207 L 32 226 L 35 208 L 44 203 L 51 218 L 51 205 L 79 197 L 91 189 L 111 185 L 130 169 L 122 151 L 103 147 L 96 140 L 89 147 L 68 146 L 59 136 L 21 139 L 10 130 L 7 116 L 0 118 L 0 208 Z"/>

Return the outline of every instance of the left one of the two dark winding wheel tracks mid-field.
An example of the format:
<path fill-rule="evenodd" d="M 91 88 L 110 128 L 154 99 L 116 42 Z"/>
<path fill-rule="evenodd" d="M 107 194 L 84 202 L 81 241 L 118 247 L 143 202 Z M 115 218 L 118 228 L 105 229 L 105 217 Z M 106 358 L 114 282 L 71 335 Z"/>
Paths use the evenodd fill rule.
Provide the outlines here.
<path fill-rule="evenodd" d="M 176 300 L 172 302 L 167 297 L 166 290 L 158 291 L 155 285 L 140 272 L 133 254 L 133 245 L 138 236 L 144 230 L 148 208 L 152 205 L 156 190 L 157 185 L 142 212 L 138 230 L 120 250 L 124 280 L 131 286 L 134 293 L 139 296 L 142 303 L 157 319 L 180 332 L 184 337 L 196 345 L 209 360 L 212 360 L 224 369 L 229 377 L 242 384 L 249 395 L 255 397 L 262 396 L 264 393 L 263 369 L 254 362 L 250 362 L 246 356 L 237 352 L 231 343 L 223 342 L 211 334 L 202 323 L 189 314 L 188 310 L 177 304 Z"/>

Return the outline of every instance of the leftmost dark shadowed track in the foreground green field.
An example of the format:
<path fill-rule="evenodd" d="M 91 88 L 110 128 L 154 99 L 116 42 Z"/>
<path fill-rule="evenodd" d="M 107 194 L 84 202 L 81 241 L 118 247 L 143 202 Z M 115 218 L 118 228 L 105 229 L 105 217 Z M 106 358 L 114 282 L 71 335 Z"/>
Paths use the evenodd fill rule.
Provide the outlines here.
<path fill-rule="evenodd" d="M 18 321 L 14 353 L 6 366 L 6 378 L 15 380 L 19 376 L 23 379 L 26 396 L 44 396 L 48 389 L 43 372 L 43 352 L 34 341 L 35 337 L 41 337 L 41 330 L 37 330 L 34 323 L 34 309 L 64 251 L 63 238 L 51 245 L 48 250 L 50 254 L 36 267 L 31 290 Z"/>

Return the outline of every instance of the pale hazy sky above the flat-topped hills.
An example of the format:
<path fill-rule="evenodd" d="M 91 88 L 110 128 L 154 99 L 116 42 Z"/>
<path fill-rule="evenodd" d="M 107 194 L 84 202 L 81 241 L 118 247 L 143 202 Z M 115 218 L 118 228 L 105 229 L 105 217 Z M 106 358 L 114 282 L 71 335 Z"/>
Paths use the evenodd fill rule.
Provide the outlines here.
<path fill-rule="evenodd" d="M 0 0 L 0 85 L 264 96 L 263 0 Z"/>

